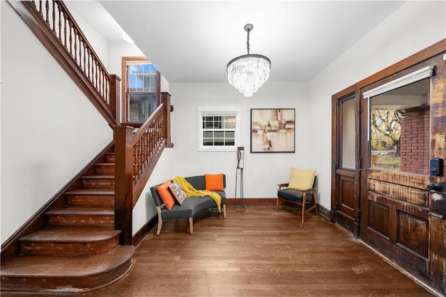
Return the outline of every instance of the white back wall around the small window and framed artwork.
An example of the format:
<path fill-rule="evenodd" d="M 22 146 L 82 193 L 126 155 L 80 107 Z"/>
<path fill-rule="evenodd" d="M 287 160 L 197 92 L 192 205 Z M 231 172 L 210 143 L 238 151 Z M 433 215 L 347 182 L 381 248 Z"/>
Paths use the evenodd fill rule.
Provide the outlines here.
<path fill-rule="evenodd" d="M 277 183 L 289 180 L 291 166 L 312 167 L 309 153 L 309 93 L 306 83 L 267 82 L 251 98 L 240 94 L 227 82 L 171 83 L 172 142 L 175 172 L 190 176 L 205 173 L 226 174 L 227 196 L 235 195 L 236 152 L 197 151 L 197 106 L 230 105 L 241 110 L 240 146 L 245 146 L 244 196 L 246 198 L 275 197 Z M 295 153 L 249 153 L 250 109 L 295 108 Z"/>

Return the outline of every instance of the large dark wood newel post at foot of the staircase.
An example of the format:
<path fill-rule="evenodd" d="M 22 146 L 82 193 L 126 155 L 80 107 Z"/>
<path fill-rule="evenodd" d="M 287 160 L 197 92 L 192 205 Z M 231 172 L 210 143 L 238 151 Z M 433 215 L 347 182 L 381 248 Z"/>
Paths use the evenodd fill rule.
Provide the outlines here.
<path fill-rule="evenodd" d="M 119 243 L 132 245 L 133 128 L 114 127 L 114 229 L 121 230 Z"/>

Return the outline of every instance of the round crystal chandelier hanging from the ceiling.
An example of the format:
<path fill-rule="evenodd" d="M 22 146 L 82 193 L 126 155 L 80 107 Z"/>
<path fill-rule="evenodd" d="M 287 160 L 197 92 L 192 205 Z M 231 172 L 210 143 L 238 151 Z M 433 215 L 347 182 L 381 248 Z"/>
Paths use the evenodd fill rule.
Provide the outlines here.
<path fill-rule="evenodd" d="M 245 24 L 244 28 L 247 31 L 248 54 L 232 59 L 226 66 L 226 72 L 229 84 L 232 84 L 245 97 L 251 97 L 270 76 L 271 61 L 261 54 L 249 54 L 249 32 L 254 26 Z"/>

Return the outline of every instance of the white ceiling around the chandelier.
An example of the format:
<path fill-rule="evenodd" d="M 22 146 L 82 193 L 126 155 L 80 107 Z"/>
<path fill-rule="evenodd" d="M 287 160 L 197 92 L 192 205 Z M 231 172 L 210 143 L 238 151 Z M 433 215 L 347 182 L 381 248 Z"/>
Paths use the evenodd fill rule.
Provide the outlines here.
<path fill-rule="evenodd" d="M 247 53 L 247 23 L 254 24 L 250 53 L 271 60 L 269 80 L 305 82 L 403 3 L 69 1 L 68 7 L 109 40 L 126 31 L 169 82 L 226 81 L 226 64 Z"/>

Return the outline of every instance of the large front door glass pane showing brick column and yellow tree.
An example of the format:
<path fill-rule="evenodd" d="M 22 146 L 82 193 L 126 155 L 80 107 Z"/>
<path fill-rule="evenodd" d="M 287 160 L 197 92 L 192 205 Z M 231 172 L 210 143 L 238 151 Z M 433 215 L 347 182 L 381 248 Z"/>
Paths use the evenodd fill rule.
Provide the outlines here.
<path fill-rule="evenodd" d="M 370 166 L 429 173 L 430 80 L 371 98 Z"/>

